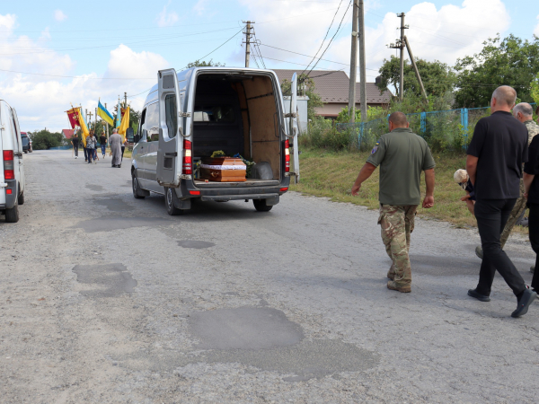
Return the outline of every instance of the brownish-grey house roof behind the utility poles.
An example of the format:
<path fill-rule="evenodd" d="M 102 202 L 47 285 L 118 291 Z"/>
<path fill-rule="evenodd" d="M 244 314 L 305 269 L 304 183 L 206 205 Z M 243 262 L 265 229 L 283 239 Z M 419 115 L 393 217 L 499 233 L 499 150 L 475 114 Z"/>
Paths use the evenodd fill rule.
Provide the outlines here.
<path fill-rule="evenodd" d="M 279 83 L 285 79 L 292 80 L 294 73 L 301 73 L 291 69 L 273 69 L 278 76 Z M 348 103 L 349 101 L 349 76 L 342 70 L 313 70 L 309 75 L 314 81 L 314 91 L 318 92 L 324 103 Z M 367 104 L 387 104 L 391 100 L 392 93 L 389 90 L 380 94 L 376 83 L 366 83 Z M 360 83 L 356 83 L 356 103 L 361 101 Z"/>

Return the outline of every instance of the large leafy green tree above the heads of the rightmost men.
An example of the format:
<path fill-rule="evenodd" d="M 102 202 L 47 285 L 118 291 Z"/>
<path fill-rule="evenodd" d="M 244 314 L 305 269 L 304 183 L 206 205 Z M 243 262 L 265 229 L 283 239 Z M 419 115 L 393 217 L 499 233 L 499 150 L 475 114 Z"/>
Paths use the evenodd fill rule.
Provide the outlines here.
<path fill-rule="evenodd" d="M 492 92 L 502 84 L 514 87 L 521 101 L 533 102 L 531 83 L 539 71 L 539 37 L 530 41 L 511 34 L 483 45 L 479 54 L 456 61 L 456 106 L 488 106 Z"/>

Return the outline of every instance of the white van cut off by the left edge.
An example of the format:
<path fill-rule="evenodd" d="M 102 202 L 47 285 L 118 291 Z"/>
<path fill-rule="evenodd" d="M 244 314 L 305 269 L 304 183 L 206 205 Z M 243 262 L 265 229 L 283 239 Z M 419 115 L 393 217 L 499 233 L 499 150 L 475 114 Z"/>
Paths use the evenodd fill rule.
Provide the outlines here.
<path fill-rule="evenodd" d="M 19 221 L 19 205 L 24 203 L 22 152 L 17 113 L 0 100 L 0 213 L 7 223 Z"/>

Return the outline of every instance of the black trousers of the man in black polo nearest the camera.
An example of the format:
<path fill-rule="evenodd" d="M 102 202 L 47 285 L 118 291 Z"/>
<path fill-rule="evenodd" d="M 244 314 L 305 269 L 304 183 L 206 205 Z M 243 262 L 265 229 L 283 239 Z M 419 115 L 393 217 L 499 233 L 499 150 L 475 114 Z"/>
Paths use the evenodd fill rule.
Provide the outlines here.
<path fill-rule="evenodd" d="M 501 250 L 499 236 L 508 222 L 509 214 L 515 206 L 514 199 L 482 199 L 475 202 L 473 208 L 477 227 L 481 236 L 483 259 L 479 272 L 477 292 L 490 295 L 494 275 L 498 270 L 514 294 L 520 294 L 526 289 L 524 279 L 513 265 L 507 254 Z M 531 224 L 530 224 L 531 225 Z"/>

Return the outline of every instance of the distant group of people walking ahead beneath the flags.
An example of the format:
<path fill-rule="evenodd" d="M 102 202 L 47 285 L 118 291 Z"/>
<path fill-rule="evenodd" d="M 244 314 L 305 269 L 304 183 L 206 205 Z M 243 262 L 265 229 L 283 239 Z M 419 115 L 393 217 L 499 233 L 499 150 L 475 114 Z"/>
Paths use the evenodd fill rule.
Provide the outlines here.
<path fill-rule="evenodd" d="M 97 164 L 99 157 L 97 156 L 98 148 L 101 148 L 101 153 L 103 159 L 106 156 L 107 149 L 107 136 L 105 132 L 102 132 L 102 135 L 99 136 L 99 139 L 95 136 L 93 130 L 90 131 L 90 135 L 86 136 L 86 145 L 83 145 L 84 149 L 84 162 L 91 164 L 92 161 Z M 81 143 L 81 139 L 78 134 L 75 133 L 71 139 L 71 145 L 73 145 L 73 150 L 75 154 L 75 159 L 78 159 L 78 149 Z M 122 141 L 122 137 L 118 134 L 118 129 L 112 130 L 112 135 L 110 136 L 108 143 L 110 145 L 110 155 L 112 156 L 111 166 L 114 168 L 120 168 L 121 162 L 123 161 L 123 154 L 126 149 L 127 140 Z"/>

